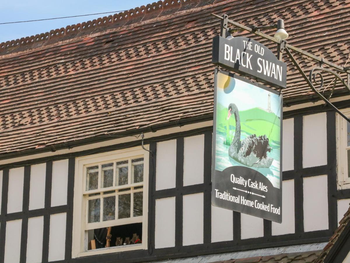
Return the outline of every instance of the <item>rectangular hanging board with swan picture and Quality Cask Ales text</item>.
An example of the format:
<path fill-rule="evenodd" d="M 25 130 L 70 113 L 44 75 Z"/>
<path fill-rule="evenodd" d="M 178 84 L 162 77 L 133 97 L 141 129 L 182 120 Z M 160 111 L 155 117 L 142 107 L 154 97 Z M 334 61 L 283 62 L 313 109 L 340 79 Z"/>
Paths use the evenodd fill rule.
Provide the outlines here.
<path fill-rule="evenodd" d="M 282 94 L 215 69 L 212 204 L 282 222 Z"/>

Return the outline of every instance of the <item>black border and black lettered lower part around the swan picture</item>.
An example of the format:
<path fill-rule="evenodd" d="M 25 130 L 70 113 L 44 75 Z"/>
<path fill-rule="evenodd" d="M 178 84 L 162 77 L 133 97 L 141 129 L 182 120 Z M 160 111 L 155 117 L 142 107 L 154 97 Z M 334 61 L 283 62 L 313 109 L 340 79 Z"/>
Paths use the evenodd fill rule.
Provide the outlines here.
<path fill-rule="evenodd" d="M 217 206 L 217 207 L 221 207 L 221 208 L 225 208 L 225 209 L 230 209 L 233 211 L 238 211 L 240 213 L 244 213 L 244 214 L 249 214 L 249 215 L 253 215 L 253 216 L 257 216 L 260 218 L 264 218 L 267 220 L 271 220 L 274 222 L 278 222 L 281 223 L 282 222 L 282 120 L 283 120 L 283 99 L 281 98 L 281 107 L 280 107 L 280 188 L 275 188 L 272 186 L 272 183 L 269 182 L 269 180 L 262 174 L 260 174 L 259 172 L 255 172 L 255 170 L 247 168 L 247 167 L 243 167 L 243 166 L 232 166 L 232 167 L 228 167 L 226 169 L 224 169 L 223 171 L 218 171 L 215 170 L 215 166 L 216 166 L 216 108 L 217 108 L 217 74 L 218 73 L 222 73 L 225 75 L 228 75 L 230 77 L 233 77 L 235 79 L 250 83 L 251 85 L 257 86 L 261 89 L 265 89 L 269 92 L 272 92 L 274 94 L 278 94 L 280 96 L 282 96 L 282 94 L 280 94 L 279 92 L 277 92 L 276 90 L 266 87 L 264 85 L 261 85 L 259 83 L 255 83 L 252 81 L 248 81 L 246 78 L 241 77 L 239 75 L 233 74 L 233 73 L 229 73 L 223 70 L 218 70 L 215 69 L 214 72 L 214 83 L 215 83 L 215 89 L 214 89 L 214 123 L 213 123 L 213 144 L 212 144 L 212 193 L 211 193 L 211 200 L 212 200 L 212 205 Z M 268 187 L 268 189 L 270 189 L 270 193 L 271 194 L 266 194 L 266 196 L 264 196 L 264 198 L 260 198 L 260 196 L 258 195 L 254 195 L 252 193 L 257 193 L 256 189 L 252 189 L 250 187 L 245 187 L 244 190 L 246 190 L 246 193 L 242 193 L 239 196 L 244 196 L 244 198 L 248 201 L 252 201 L 252 198 L 250 197 L 254 197 L 255 200 L 259 200 L 258 201 L 258 205 L 264 205 L 263 200 L 266 200 L 265 202 L 268 202 L 267 204 L 269 205 L 269 209 L 272 209 L 271 204 L 273 204 L 274 208 L 280 208 L 279 210 L 279 214 L 274 214 L 272 213 L 272 211 L 266 211 L 266 210 L 261 210 L 261 209 L 257 209 L 256 207 L 251 207 L 249 205 L 242 205 L 240 203 L 241 200 L 238 200 L 238 202 L 234 202 L 234 201 L 230 201 L 227 200 L 227 198 L 231 198 L 229 195 L 231 196 L 235 196 L 233 194 L 233 190 L 235 190 L 234 184 L 231 181 L 231 178 L 228 178 L 228 176 L 230 176 L 230 173 L 238 173 L 239 174 L 239 178 L 242 178 L 242 180 L 248 180 L 248 178 L 252 179 L 252 181 L 260 181 L 262 182 L 264 185 L 266 185 Z M 228 187 L 229 186 L 229 187 Z M 271 188 L 272 187 L 272 188 Z M 231 190 L 231 189 L 232 190 Z M 230 191 L 228 190 L 230 189 Z M 217 198 L 217 193 L 227 193 L 227 195 L 225 196 L 225 198 Z M 259 194 L 262 194 L 262 192 L 260 191 Z M 239 197 L 240 198 L 240 197 Z M 266 199 L 265 199 L 266 198 Z M 255 202 L 255 200 L 253 202 Z M 254 206 L 256 204 L 254 203 Z M 266 205 L 266 203 L 265 203 Z"/>

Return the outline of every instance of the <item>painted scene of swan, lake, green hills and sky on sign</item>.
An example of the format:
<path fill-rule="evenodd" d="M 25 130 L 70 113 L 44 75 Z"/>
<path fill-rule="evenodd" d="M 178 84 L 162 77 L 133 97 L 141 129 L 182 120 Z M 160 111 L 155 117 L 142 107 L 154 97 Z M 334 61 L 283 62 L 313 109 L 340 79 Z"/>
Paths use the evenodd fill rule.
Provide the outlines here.
<path fill-rule="evenodd" d="M 280 188 L 278 94 L 218 73 L 215 170 L 245 166 Z"/>

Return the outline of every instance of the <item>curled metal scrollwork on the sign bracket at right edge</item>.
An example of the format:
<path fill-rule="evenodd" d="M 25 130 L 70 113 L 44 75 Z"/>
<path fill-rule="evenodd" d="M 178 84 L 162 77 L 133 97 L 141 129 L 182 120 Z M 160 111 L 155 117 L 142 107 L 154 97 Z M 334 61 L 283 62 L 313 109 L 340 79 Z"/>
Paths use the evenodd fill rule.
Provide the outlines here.
<path fill-rule="evenodd" d="M 324 67 L 314 67 L 313 69 L 311 69 L 310 71 L 310 74 L 309 74 L 309 80 L 310 82 L 314 82 L 316 83 L 317 85 L 319 85 L 318 88 L 315 87 L 315 89 L 318 91 L 318 92 L 321 92 L 322 90 L 322 87 L 323 87 L 323 75 L 322 75 L 322 71 L 323 72 L 328 72 L 330 74 L 332 74 L 334 76 L 334 83 L 333 83 L 333 87 L 332 87 L 332 90 L 330 92 L 330 94 L 328 95 L 328 100 L 332 97 L 333 93 L 334 93 L 334 89 L 337 85 L 337 80 L 340 80 L 343 85 L 348 89 L 348 91 L 350 92 L 350 87 L 348 85 L 348 83 L 345 82 L 345 80 L 338 74 L 336 73 L 335 71 L 331 70 L 331 69 L 328 69 L 328 68 L 324 68 Z M 319 77 L 319 79 L 317 79 L 317 77 Z M 322 90 L 322 93 L 324 94 L 325 90 L 328 88 L 325 87 L 323 90 Z"/>

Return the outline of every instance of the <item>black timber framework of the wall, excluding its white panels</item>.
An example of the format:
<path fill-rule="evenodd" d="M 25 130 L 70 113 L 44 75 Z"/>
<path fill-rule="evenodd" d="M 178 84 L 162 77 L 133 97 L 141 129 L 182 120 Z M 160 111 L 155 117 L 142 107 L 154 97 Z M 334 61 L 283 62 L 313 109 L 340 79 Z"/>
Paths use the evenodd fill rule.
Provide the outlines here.
<path fill-rule="evenodd" d="M 310 112 L 311 110 L 311 112 Z M 263 236 L 256 238 L 241 238 L 241 216 L 232 212 L 233 233 L 232 240 L 222 242 L 211 242 L 211 154 L 212 154 L 212 127 L 189 130 L 182 133 L 169 134 L 153 137 L 147 141 L 150 150 L 155 153 L 149 158 L 149 198 L 148 198 L 148 249 L 129 252 L 118 252 L 112 254 L 96 255 L 83 258 L 71 258 L 72 249 L 72 216 L 73 216 L 73 186 L 75 173 L 75 157 L 93 153 L 103 153 L 116 149 L 124 149 L 140 145 L 140 142 L 121 143 L 109 147 L 86 150 L 82 152 L 45 157 L 41 159 L 28 160 L 20 163 L 12 163 L 2 166 L 2 193 L 1 193 L 1 215 L 0 215 L 0 263 L 5 255 L 6 224 L 9 221 L 22 220 L 20 262 L 26 262 L 28 218 L 43 216 L 43 239 L 42 239 L 42 262 L 49 260 L 49 238 L 50 238 L 50 216 L 66 213 L 66 235 L 64 245 L 64 260 L 60 262 L 140 262 L 155 259 L 181 258 L 196 255 L 214 254 L 219 252 L 240 251 L 248 249 L 278 247 L 282 245 L 307 244 L 328 241 L 337 228 L 337 201 L 349 199 L 349 190 L 337 190 L 336 176 L 336 125 L 335 112 L 327 111 L 327 164 L 316 167 L 303 168 L 303 118 L 314 114 L 313 110 L 319 107 L 309 108 L 308 111 L 297 110 L 288 114 L 287 118 L 294 119 L 294 170 L 283 172 L 283 181 L 294 180 L 294 222 L 295 232 L 292 234 L 272 235 L 272 223 L 263 221 Z M 323 111 L 324 112 L 324 111 Z M 203 183 L 183 186 L 184 165 L 184 138 L 194 135 L 204 136 L 204 174 Z M 176 185 L 171 189 L 156 190 L 156 167 L 157 167 L 157 142 L 176 140 Z M 51 207 L 52 192 L 52 162 L 68 160 L 68 182 L 67 202 L 65 205 Z M 29 182 L 30 166 L 45 163 L 45 205 L 42 209 L 29 210 Z M 23 181 L 23 207 L 21 212 L 7 214 L 7 198 L 9 169 L 24 167 Z M 304 183 L 309 177 L 327 175 L 327 209 L 328 229 L 316 231 L 304 231 Z M 203 243 L 183 246 L 183 197 L 191 194 L 203 193 Z M 155 248 L 155 220 L 156 200 L 175 197 L 175 245 L 168 248 Z M 323 204 L 321 204 L 323 205 Z M 237 227 L 239 226 L 239 227 Z"/>

